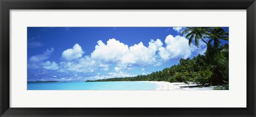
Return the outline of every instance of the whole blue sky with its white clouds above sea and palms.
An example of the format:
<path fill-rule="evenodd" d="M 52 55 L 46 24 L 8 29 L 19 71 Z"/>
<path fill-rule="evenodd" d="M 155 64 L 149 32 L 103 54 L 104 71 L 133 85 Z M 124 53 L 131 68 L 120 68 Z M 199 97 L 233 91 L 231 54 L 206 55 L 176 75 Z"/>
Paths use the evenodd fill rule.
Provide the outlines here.
<path fill-rule="evenodd" d="M 203 54 L 181 27 L 28 27 L 28 81 L 150 74 Z M 228 28 L 223 28 L 228 32 Z M 222 44 L 228 41 L 222 41 Z"/>

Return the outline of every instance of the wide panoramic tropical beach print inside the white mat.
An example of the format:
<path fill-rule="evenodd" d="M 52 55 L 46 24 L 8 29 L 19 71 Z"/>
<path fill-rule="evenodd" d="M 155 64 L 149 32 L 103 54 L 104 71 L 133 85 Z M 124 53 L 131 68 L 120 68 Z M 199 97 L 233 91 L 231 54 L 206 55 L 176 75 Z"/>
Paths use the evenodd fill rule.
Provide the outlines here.
<path fill-rule="evenodd" d="M 28 90 L 228 90 L 228 27 L 28 27 Z"/>

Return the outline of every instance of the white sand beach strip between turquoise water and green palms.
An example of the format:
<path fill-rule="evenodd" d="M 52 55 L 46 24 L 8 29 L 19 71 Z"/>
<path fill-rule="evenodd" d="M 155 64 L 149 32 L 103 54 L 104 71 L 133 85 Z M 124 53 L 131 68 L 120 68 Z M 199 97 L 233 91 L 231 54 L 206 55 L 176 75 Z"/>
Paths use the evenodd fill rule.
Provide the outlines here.
<path fill-rule="evenodd" d="M 157 82 L 157 81 L 143 81 L 155 83 L 158 85 L 156 90 L 213 90 L 213 86 L 209 87 L 191 87 L 196 86 L 195 83 L 185 84 L 185 83 L 169 83 L 169 82 Z"/>

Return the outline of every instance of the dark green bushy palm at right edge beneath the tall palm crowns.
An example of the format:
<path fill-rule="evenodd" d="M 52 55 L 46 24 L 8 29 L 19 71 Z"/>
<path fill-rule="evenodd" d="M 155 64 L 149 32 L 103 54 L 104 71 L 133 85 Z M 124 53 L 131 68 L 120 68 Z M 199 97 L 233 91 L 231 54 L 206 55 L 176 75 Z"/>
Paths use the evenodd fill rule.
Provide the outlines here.
<path fill-rule="evenodd" d="M 220 47 L 208 45 L 205 55 L 198 55 L 197 63 L 201 67 L 200 69 L 210 70 L 213 73 L 209 78 L 208 85 L 228 83 L 228 51 L 228 44 Z"/>

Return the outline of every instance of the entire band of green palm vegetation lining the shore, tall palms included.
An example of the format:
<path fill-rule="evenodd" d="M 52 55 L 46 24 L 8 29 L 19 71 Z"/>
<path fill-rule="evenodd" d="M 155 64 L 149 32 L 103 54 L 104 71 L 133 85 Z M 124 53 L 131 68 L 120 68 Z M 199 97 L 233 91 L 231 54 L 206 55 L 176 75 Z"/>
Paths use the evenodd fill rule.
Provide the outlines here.
<path fill-rule="evenodd" d="M 202 40 L 207 44 L 204 55 L 197 55 L 192 59 L 180 59 L 178 65 L 156 71 L 148 75 L 138 75 L 135 77 L 109 78 L 99 80 L 87 80 L 86 82 L 113 82 L 113 81 L 166 81 L 196 83 L 198 85 L 212 86 L 215 89 L 228 89 L 229 82 L 229 46 L 220 46 L 220 39 L 228 40 L 228 33 L 222 28 L 193 28 L 188 27 L 182 35 L 189 39 L 189 46 L 194 41 L 195 46 L 199 46 Z M 209 40 L 206 42 L 205 40 Z M 213 41 L 213 42 L 212 42 Z M 212 44 L 213 43 L 213 44 Z"/>

